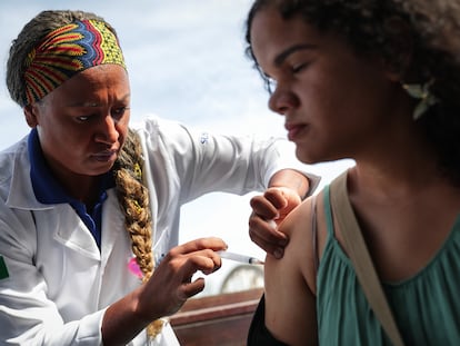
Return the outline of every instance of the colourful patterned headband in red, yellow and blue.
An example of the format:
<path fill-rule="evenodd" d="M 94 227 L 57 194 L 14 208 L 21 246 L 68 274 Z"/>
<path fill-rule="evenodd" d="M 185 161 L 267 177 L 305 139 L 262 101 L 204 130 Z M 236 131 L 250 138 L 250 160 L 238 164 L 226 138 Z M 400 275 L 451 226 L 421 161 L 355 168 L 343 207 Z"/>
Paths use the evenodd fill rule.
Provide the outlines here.
<path fill-rule="evenodd" d="M 28 56 L 26 105 L 42 99 L 78 72 L 104 63 L 126 69 L 118 39 L 104 22 L 82 20 L 51 31 Z"/>

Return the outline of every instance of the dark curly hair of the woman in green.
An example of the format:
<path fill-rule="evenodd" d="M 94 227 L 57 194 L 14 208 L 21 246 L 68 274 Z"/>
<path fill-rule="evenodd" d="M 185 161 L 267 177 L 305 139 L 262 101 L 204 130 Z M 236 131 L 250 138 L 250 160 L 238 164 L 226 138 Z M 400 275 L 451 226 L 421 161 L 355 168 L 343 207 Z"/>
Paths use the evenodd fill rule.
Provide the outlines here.
<path fill-rule="evenodd" d="M 254 16 L 274 8 L 284 20 L 300 17 L 320 32 L 344 40 L 361 57 L 381 57 L 406 82 L 432 80 L 439 100 L 419 120 L 437 152 L 440 170 L 460 186 L 460 3 L 450 0 L 256 0 L 246 22 L 247 56 L 260 71 L 251 48 Z M 401 45 L 404 23 L 411 40 L 410 66 L 402 68 L 408 47 Z M 266 86 L 269 80 L 261 73 Z"/>

